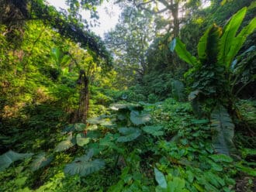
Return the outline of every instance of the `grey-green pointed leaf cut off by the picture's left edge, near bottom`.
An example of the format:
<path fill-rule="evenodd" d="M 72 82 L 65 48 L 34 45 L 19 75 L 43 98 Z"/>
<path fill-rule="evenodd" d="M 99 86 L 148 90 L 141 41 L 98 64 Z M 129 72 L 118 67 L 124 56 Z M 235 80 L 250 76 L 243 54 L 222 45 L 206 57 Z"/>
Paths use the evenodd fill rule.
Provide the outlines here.
<path fill-rule="evenodd" d="M 9 150 L 0 156 L 0 171 L 8 168 L 13 162 L 20 159 L 29 158 L 30 156 L 33 156 L 33 153 L 16 153 L 12 150 Z"/>

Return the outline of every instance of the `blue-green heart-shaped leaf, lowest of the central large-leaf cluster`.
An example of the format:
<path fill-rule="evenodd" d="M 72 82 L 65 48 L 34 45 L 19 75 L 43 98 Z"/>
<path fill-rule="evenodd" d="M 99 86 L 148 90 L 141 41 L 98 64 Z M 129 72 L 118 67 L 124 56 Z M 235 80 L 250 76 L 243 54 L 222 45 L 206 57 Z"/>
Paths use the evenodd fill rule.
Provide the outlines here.
<path fill-rule="evenodd" d="M 140 134 L 141 134 L 140 129 L 136 129 L 136 128 L 132 128 L 132 127 L 120 128 L 119 132 L 121 134 L 123 134 L 123 136 L 120 136 L 116 140 L 116 142 L 130 142 L 130 141 L 133 141 L 133 140 L 137 139 L 137 137 L 139 137 Z"/>

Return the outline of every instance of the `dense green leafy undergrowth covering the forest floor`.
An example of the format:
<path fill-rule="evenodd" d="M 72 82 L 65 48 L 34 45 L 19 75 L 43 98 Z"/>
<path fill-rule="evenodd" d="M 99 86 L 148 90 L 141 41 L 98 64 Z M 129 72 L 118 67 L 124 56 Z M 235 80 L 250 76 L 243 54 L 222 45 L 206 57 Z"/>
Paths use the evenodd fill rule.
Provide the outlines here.
<path fill-rule="evenodd" d="M 26 131 L 5 138 L 26 157 L 0 172 L 0 191 L 255 191 L 256 140 L 245 129 L 255 132 L 256 103 L 238 106 L 247 123 L 237 122 L 233 159 L 216 154 L 209 120 L 188 102 L 121 101 L 87 126 L 35 106 Z"/>

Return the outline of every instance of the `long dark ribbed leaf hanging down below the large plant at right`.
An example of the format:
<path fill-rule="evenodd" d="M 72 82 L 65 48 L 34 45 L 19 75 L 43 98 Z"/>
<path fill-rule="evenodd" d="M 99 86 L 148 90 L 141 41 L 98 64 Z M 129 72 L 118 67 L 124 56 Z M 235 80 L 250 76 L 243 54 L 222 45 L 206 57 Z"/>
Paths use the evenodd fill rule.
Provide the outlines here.
<path fill-rule="evenodd" d="M 211 114 L 211 127 L 213 130 L 213 146 L 217 153 L 230 156 L 234 147 L 234 123 L 222 105 L 217 106 Z"/>

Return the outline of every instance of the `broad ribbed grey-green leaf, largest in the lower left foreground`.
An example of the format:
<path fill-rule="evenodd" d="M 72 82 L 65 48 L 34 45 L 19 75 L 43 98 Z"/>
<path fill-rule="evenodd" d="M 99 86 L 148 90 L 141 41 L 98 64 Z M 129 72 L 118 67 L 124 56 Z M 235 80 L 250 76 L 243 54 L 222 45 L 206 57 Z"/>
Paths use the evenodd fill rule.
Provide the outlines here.
<path fill-rule="evenodd" d="M 64 168 L 64 173 L 71 175 L 79 174 L 81 177 L 101 170 L 105 166 L 103 159 L 94 159 L 88 161 L 88 155 L 74 159 L 72 163 L 67 164 Z"/>

